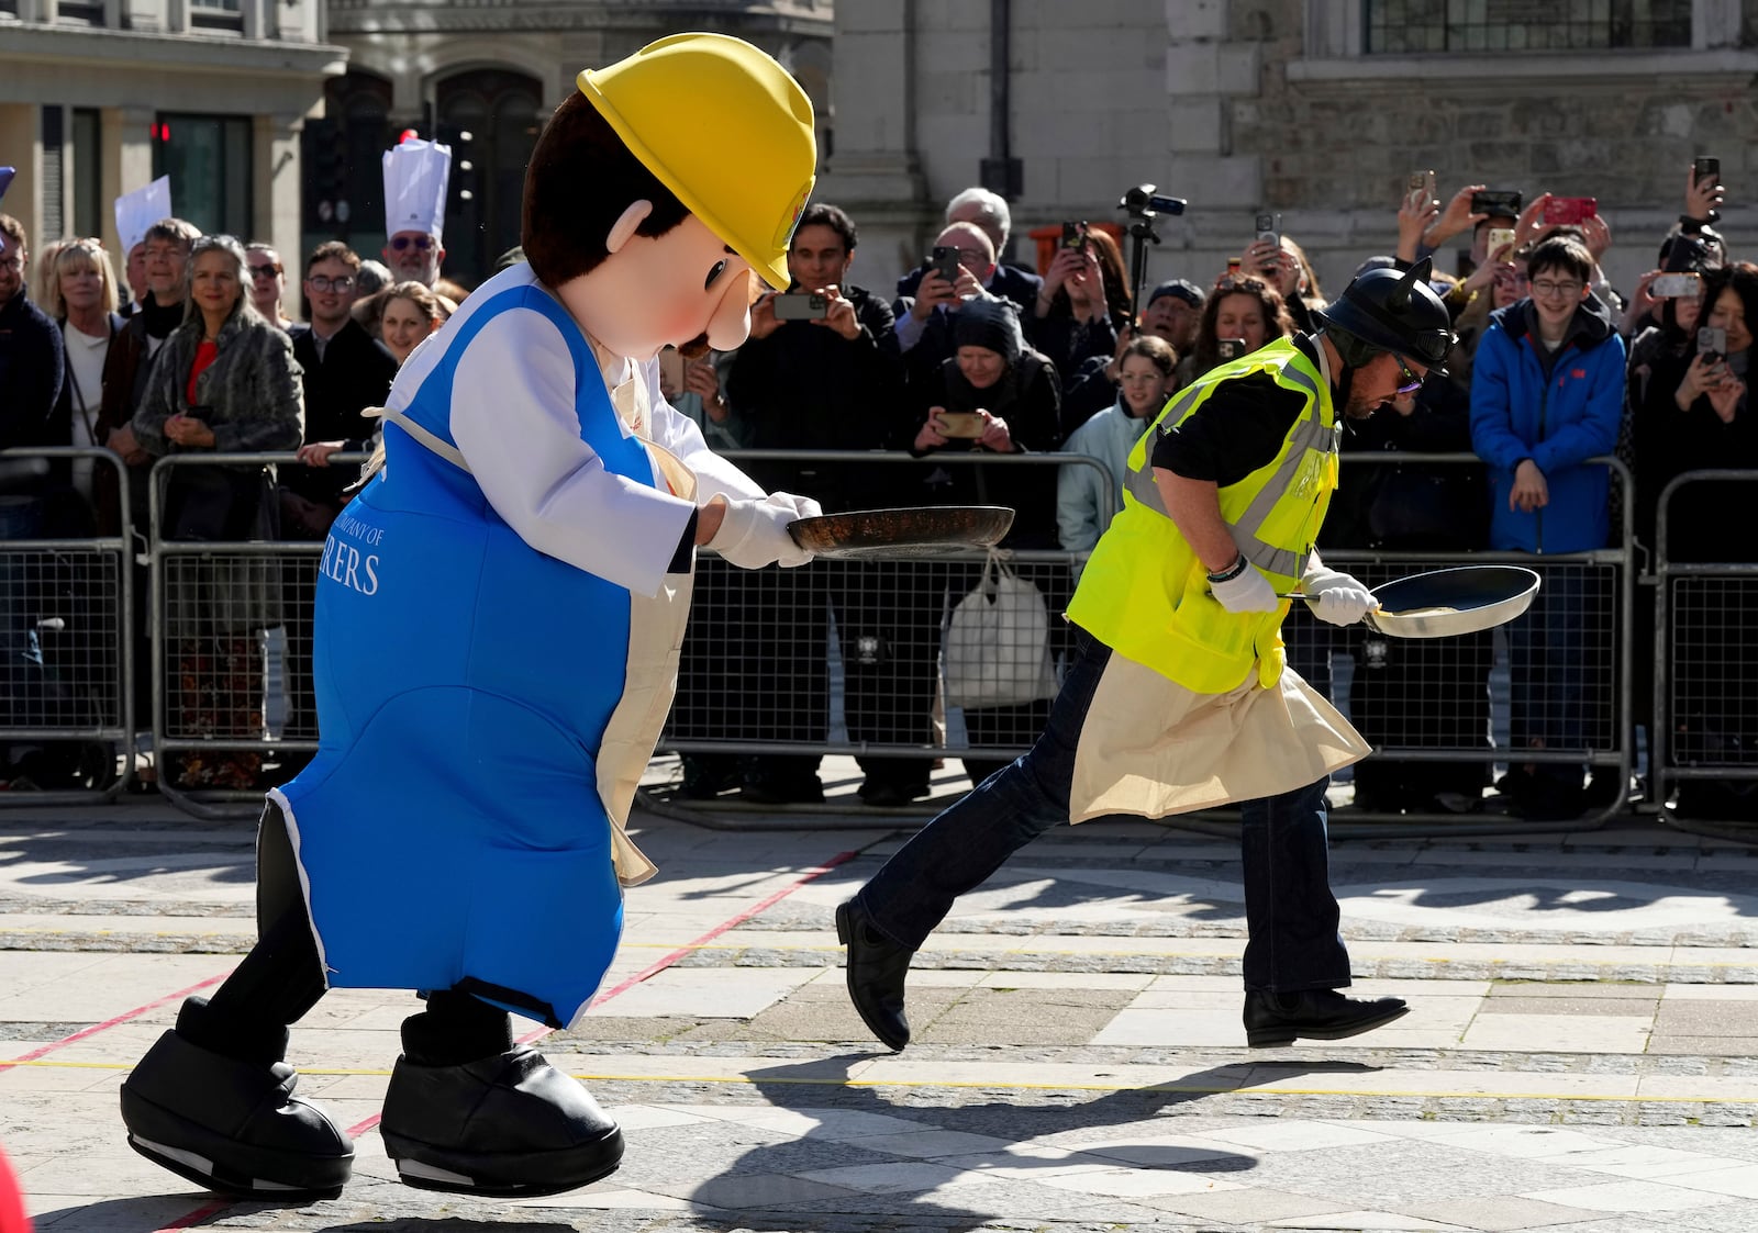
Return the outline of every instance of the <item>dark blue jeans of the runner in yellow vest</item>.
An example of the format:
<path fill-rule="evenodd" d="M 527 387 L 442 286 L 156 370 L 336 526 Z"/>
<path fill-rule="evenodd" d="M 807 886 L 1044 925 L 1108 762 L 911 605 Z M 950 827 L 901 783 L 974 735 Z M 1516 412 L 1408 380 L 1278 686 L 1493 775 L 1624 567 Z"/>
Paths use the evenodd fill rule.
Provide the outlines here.
<path fill-rule="evenodd" d="M 1076 631 L 1069 674 L 1032 750 L 918 831 L 856 894 L 879 933 L 921 948 L 958 896 L 1069 820 L 1074 750 L 1109 659 L 1109 646 Z M 1318 780 L 1239 808 L 1248 991 L 1341 989 L 1350 982 L 1329 885 L 1326 787 L 1329 780 Z"/>

